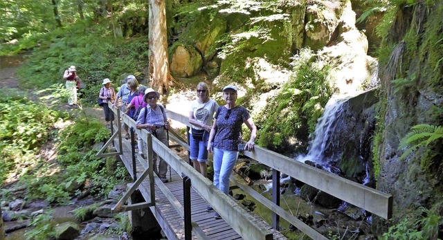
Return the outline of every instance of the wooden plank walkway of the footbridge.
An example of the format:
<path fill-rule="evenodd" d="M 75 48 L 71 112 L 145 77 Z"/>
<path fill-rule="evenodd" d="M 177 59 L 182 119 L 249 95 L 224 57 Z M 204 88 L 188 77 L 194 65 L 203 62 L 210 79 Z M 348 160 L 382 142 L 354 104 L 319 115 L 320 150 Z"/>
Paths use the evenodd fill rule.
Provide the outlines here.
<path fill-rule="evenodd" d="M 114 142 L 116 144 L 116 149 L 118 149 L 118 141 Z M 132 176 L 133 169 L 130 142 L 124 138 L 122 139 L 122 142 L 123 154 L 120 155 L 120 159 L 123 161 L 123 164 L 125 165 L 129 174 Z M 147 168 L 147 160 L 141 158 L 139 154 L 136 154 L 136 156 L 136 173 L 139 177 Z M 177 201 L 183 205 L 183 179 L 179 174 L 177 174 L 177 172 L 174 171 L 174 169 L 172 169 L 172 167 L 168 167 L 167 176 L 168 180 L 170 181 L 168 183 L 164 183 L 164 186 L 168 187 L 168 190 L 174 195 Z M 132 177 L 134 178 L 134 176 Z M 149 176 L 147 176 L 145 181 L 141 183 L 138 190 L 141 191 L 141 194 L 145 200 L 150 201 L 150 185 L 148 178 Z M 157 182 L 159 182 L 159 184 L 157 184 Z M 184 220 L 181 217 L 181 214 L 174 209 L 172 203 L 168 201 L 165 194 L 163 194 L 161 191 L 161 186 L 159 186 L 162 185 L 161 181 L 157 182 L 154 190 L 156 196 L 156 206 L 150 207 L 150 209 L 168 239 L 185 239 Z M 215 212 L 206 212 L 206 207 L 208 207 L 208 205 L 209 204 L 191 187 L 191 219 L 192 222 L 198 224 L 201 231 L 206 234 L 207 239 L 242 239 L 242 237 L 240 237 L 239 234 L 237 234 L 237 232 L 235 232 L 230 225 L 224 221 L 224 219 L 215 219 Z M 287 239 L 280 232 L 274 230 L 271 228 L 271 226 L 269 226 L 269 224 L 260 219 L 259 216 L 253 214 L 253 212 L 249 213 L 251 213 L 258 223 L 261 223 L 272 232 L 273 239 Z M 195 232 L 192 232 L 192 239 L 198 239 Z"/>

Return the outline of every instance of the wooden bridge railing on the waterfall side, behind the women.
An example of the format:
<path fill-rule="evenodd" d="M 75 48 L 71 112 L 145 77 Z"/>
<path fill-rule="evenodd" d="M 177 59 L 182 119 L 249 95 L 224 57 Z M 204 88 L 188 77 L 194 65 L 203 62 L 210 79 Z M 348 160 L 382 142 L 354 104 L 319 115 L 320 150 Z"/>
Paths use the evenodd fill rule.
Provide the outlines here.
<path fill-rule="evenodd" d="M 191 127 L 188 117 L 183 116 L 180 113 L 168 111 L 168 118 L 185 124 L 187 130 Z M 189 134 L 187 134 L 187 137 L 189 138 Z M 189 146 L 184 147 L 189 148 Z M 281 216 L 312 239 L 326 239 L 316 232 L 316 230 L 309 227 L 309 225 L 303 223 L 291 213 L 280 207 L 280 173 L 287 174 L 298 181 L 311 185 L 311 187 L 315 187 L 316 189 L 335 196 L 347 203 L 361 207 L 368 212 L 377 214 L 384 219 L 390 219 L 392 217 L 392 195 L 390 194 L 374 190 L 359 183 L 354 183 L 346 178 L 325 172 L 305 163 L 300 163 L 297 160 L 263 147 L 255 146 L 254 151 L 242 151 L 242 154 L 273 169 L 273 201 L 269 201 L 251 187 L 235 181 L 233 177 L 230 178 L 230 181 L 244 190 L 244 192 L 253 196 L 257 201 L 260 201 L 260 203 L 273 212 L 272 225 L 275 229 L 280 228 L 279 221 Z M 210 203 L 213 204 L 213 201 L 211 200 Z"/>

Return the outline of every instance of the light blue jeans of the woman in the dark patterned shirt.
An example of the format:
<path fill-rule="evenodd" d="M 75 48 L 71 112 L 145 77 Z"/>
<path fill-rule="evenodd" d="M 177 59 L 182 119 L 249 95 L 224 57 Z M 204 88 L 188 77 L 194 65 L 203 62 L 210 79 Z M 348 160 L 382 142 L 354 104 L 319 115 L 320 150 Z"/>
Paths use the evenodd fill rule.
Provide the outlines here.
<path fill-rule="evenodd" d="M 229 176 L 233 172 L 238 151 L 229 151 L 214 147 L 214 185 L 221 192 L 229 193 Z"/>

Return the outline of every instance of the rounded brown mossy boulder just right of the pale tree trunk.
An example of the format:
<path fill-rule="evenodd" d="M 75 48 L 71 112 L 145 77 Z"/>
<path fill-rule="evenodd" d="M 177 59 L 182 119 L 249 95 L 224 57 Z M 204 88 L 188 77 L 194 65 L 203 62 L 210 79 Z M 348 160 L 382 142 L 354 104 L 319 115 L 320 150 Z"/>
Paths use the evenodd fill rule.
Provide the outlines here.
<path fill-rule="evenodd" d="M 178 77 L 192 77 L 197 74 L 203 64 L 200 53 L 192 46 L 177 46 L 170 57 L 170 71 Z"/>

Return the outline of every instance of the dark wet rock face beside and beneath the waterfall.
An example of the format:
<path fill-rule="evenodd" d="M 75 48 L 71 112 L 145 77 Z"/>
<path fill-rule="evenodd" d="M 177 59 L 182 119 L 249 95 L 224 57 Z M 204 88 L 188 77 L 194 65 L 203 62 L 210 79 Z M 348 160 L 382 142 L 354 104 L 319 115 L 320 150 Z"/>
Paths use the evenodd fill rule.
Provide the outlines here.
<path fill-rule="evenodd" d="M 371 90 L 343 103 L 343 111 L 332 123 L 323 158 L 327 168 L 357 183 L 368 181 L 372 159 L 374 109 L 377 98 Z M 367 172 L 368 171 L 368 172 Z M 372 183 L 369 183 L 372 184 Z"/>

